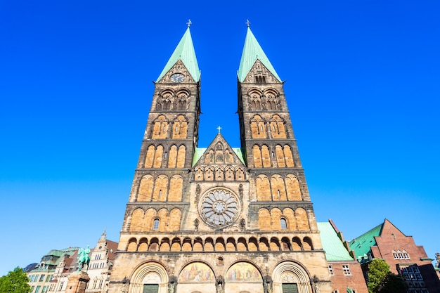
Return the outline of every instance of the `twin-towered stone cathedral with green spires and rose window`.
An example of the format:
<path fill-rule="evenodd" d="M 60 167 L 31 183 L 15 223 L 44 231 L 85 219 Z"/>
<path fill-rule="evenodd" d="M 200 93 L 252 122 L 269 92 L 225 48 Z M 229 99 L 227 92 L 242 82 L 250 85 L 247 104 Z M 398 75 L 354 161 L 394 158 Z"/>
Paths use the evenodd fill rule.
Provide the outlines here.
<path fill-rule="evenodd" d="M 198 147 L 190 27 L 155 81 L 110 293 L 332 292 L 283 81 L 247 26 L 240 148 Z"/>

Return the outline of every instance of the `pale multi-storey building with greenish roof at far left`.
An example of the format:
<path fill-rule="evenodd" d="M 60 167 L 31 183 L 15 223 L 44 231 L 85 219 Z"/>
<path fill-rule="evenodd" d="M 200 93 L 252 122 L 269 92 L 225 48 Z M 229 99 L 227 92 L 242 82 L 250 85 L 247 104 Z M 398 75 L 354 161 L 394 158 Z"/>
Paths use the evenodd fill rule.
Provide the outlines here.
<path fill-rule="evenodd" d="M 53 277 L 56 275 L 56 268 L 64 259 L 74 256 L 78 252 L 78 247 L 69 247 L 67 249 L 53 249 L 41 258 L 31 271 L 27 272 L 30 293 L 46 293 L 56 289 Z"/>

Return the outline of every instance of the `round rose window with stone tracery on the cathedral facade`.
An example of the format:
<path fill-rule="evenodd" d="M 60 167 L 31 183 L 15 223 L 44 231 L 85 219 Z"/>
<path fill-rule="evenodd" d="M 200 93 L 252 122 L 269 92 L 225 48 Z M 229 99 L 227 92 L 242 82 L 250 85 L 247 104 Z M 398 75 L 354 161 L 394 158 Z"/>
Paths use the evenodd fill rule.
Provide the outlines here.
<path fill-rule="evenodd" d="M 228 226 L 236 221 L 239 211 L 240 202 L 228 190 L 211 190 L 200 200 L 200 214 L 210 226 Z"/>

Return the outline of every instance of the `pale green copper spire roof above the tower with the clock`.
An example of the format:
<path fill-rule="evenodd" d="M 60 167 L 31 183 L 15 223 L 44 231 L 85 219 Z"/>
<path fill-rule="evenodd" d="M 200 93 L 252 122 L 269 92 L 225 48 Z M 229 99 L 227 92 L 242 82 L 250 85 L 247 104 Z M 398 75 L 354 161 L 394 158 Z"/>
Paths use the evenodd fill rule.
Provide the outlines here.
<path fill-rule="evenodd" d="M 183 34 L 182 39 L 179 41 L 179 44 L 177 44 L 176 48 L 174 49 L 174 52 L 169 58 L 167 65 L 165 65 L 164 70 L 162 70 L 159 77 L 157 77 L 156 82 L 159 82 L 160 79 L 168 72 L 168 70 L 170 70 L 177 61 L 179 61 L 179 59 L 182 60 L 195 82 L 198 82 L 200 79 L 200 70 L 197 63 L 197 58 L 195 58 L 193 39 L 191 39 L 189 26 L 186 29 L 185 34 Z"/>

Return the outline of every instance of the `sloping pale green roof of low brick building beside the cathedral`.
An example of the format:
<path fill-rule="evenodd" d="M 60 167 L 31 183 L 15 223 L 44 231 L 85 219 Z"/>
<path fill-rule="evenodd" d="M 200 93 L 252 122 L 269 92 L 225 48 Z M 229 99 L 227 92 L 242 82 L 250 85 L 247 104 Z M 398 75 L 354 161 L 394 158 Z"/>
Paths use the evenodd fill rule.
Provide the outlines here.
<path fill-rule="evenodd" d="M 327 261 L 354 261 L 339 239 L 332 224 L 328 222 L 317 224 L 321 232 L 321 242 L 323 242 L 323 249 Z"/>

